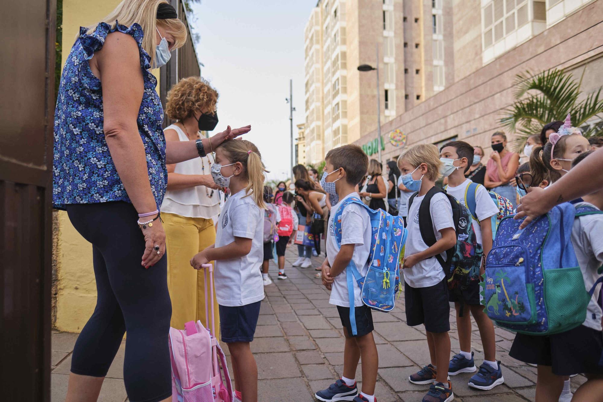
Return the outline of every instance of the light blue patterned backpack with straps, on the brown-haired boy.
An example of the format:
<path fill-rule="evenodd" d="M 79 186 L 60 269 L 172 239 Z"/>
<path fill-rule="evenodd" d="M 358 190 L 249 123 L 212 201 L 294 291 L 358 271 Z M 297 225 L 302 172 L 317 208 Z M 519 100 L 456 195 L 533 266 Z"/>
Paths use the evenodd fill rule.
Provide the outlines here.
<path fill-rule="evenodd" d="M 358 272 L 354 261 L 346 267 L 347 293 L 350 299 L 350 324 L 352 334 L 356 335 L 356 316 L 354 307 L 354 280 L 361 289 L 362 302 L 373 310 L 391 311 L 396 301 L 396 293 L 400 289 L 400 250 L 406 242 L 408 231 L 404 228 L 402 217 L 392 216 L 383 209 L 368 208 L 360 199 L 346 199 L 333 217 L 335 226 L 335 241 L 341 247 L 341 214 L 351 203 L 362 205 L 370 216 L 371 237 L 370 253 L 368 254 L 368 271 L 364 277 Z M 393 282 L 393 284 L 391 283 Z M 393 285 L 393 286 L 392 286 Z"/>

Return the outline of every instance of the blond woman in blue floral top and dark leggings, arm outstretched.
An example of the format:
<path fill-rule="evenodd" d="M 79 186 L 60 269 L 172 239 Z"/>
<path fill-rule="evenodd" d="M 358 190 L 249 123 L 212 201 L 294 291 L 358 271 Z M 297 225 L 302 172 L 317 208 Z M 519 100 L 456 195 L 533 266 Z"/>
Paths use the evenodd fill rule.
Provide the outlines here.
<path fill-rule="evenodd" d="M 186 27 L 168 2 L 124 0 L 98 25 L 81 28 L 66 59 L 55 110 L 53 203 L 92 243 L 98 292 L 75 343 L 68 401 L 98 398 L 125 331 L 129 400 L 171 400 L 171 304 L 159 219 L 166 164 L 204 156 L 250 130 L 166 143 L 150 69 L 185 42 Z"/>

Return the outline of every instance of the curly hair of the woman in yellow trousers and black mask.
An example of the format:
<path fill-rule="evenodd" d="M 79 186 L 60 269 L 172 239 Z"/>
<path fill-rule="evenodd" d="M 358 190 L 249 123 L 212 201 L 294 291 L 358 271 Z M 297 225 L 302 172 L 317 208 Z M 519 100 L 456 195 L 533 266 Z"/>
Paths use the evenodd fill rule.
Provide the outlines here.
<path fill-rule="evenodd" d="M 172 120 L 185 120 L 201 109 L 216 112 L 218 91 L 203 77 L 182 78 L 168 91 L 165 113 Z"/>

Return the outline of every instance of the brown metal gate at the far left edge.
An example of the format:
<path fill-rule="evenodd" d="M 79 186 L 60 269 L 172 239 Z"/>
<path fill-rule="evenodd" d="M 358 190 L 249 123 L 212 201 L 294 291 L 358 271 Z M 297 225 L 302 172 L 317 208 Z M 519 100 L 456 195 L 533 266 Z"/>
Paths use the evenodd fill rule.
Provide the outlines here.
<path fill-rule="evenodd" d="M 0 387 L 48 401 L 56 0 L 0 16 Z"/>

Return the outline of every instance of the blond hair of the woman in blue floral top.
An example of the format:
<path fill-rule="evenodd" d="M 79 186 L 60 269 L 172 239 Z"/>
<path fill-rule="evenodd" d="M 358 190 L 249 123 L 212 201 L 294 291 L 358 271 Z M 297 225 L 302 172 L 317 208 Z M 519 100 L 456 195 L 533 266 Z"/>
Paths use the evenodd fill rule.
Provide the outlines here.
<path fill-rule="evenodd" d="M 159 8 L 159 4 L 161 3 L 169 4 L 166 0 L 123 0 L 109 15 L 96 24 L 90 25 L 86 33 L 89 35 L 94 33 L 100 22 L 106 22 L 110 25 L 111 29 L 115 28 L 116 20 L 119 22 L 119 25 L 127 27 L 136 23 L 140 25 L 144 33 L 142 48 L 151 56 L 151 66 L 154 66 L 155 47 L 157 46 L 155 35 L 157 25 L 165 28 L 166 32 L 174 36 L 174 47 L 172 50 L 180 48 L 186 43 L 186 26 L 180 19 L 157 19 L 157 8 Z"/>

